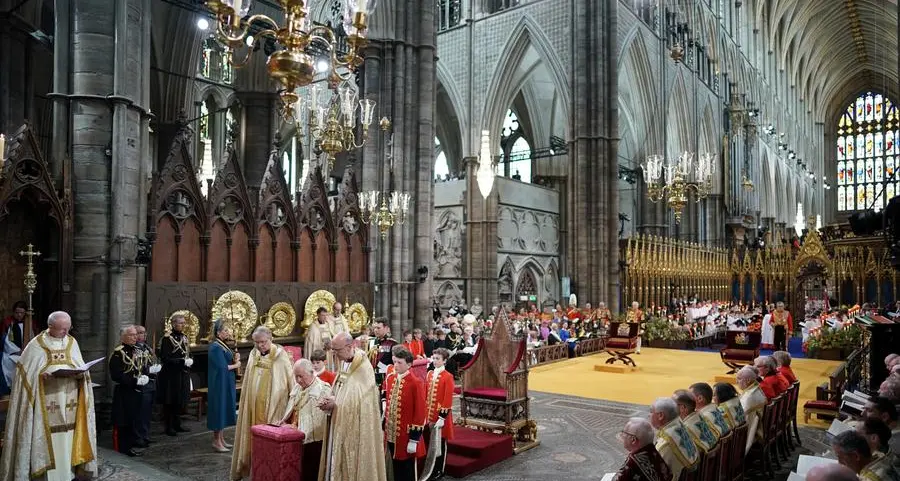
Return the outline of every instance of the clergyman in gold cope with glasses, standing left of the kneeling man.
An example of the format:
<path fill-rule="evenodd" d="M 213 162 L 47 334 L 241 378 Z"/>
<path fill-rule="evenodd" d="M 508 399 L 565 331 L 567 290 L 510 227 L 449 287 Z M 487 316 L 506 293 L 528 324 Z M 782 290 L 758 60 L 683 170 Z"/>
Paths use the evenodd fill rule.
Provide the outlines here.
<path fill-rule="evenodd" d="M 241 388 L 231 455 L 232 480 L 250 476 L 250 428 L 280 422 L 293 387 L 291 356 L 283 347 L 272 343 L 272 331 L 259 326 L 252 337 L 256 347 L 250 351 Z"/>

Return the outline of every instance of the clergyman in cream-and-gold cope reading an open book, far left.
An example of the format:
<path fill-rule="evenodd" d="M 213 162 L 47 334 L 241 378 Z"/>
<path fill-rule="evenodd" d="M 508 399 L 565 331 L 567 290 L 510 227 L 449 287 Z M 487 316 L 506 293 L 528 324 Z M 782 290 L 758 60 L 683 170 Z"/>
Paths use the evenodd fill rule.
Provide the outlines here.
<path fill-rule="evenodd" d="M 90 372 L 69 335 L 72 318 L 54 312 L 47 330 L 22 352 L 6 417 L 0 479 L 72 481 L 97 474 L 97 432 Z"/>

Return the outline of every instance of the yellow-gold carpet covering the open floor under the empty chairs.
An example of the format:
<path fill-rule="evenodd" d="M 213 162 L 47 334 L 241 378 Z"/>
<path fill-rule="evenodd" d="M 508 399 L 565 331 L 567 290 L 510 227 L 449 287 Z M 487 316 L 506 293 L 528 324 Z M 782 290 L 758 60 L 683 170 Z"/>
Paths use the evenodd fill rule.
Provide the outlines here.
<path fill-rule="evenodd" d="M 632 356 L 638 365 L 633 372 L 599 372 L 594 366 L 603 364 L 604 353 L 539 366 L 531 370 L 529 388 L 558 394 L 606 399 L 649 405 L 660 396 L 676 389 L 687 389 L 695 382 L 715 384 L 716 376 L 728 371 L 718 353 L 644 348 Z M 791 367 L 800 379 L 800 401 L 797 419 L 803 422 L 803 403 L 816 398 L 816 386 L 828 380 L 839 361 L 794 359 Z M 617 363 L 621 366 L 621 363 Z M 810 423 L 812 424 L 812 422 Z M 823 422 L 816 422 L 816 425 Z"/>

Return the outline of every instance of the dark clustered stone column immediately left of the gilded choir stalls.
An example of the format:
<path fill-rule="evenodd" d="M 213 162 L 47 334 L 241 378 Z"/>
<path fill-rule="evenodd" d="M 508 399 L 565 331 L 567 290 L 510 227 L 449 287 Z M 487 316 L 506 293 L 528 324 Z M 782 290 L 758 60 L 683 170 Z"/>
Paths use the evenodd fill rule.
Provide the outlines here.
<path fill-rule="evenodd" d="M 574 0 L 566 251 L 579 299 L 619 309 L 616 0 Z M 577 173 L 577 174 L 576 174 Z"/>

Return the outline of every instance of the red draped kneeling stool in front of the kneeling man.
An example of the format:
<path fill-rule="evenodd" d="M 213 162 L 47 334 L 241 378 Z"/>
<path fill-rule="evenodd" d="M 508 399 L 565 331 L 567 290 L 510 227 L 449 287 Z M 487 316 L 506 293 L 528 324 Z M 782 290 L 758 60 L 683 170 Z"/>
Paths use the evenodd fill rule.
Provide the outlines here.
<path fill-rule="evenodd" d="M 250 479 L 294 481 L 301 479 L 301 431 L 290 426 L 257 424 L 250 428 Z"/>

